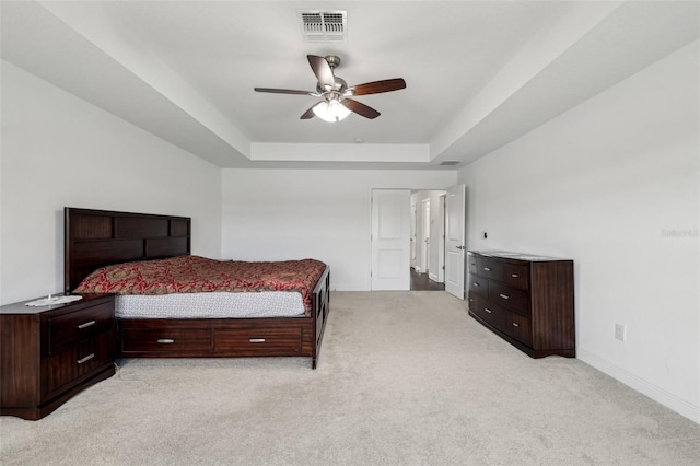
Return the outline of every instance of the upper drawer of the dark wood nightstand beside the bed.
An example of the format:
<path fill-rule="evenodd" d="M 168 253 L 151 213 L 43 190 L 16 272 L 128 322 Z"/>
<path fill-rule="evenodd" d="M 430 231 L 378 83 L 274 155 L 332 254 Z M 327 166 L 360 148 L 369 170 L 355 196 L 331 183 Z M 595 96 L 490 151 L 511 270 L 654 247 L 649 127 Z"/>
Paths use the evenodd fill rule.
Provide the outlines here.
<path fill-rule="evenodd" d="M 50 353 L 109 331 L 114 325 L 113 301 L 48 319 Z"/>

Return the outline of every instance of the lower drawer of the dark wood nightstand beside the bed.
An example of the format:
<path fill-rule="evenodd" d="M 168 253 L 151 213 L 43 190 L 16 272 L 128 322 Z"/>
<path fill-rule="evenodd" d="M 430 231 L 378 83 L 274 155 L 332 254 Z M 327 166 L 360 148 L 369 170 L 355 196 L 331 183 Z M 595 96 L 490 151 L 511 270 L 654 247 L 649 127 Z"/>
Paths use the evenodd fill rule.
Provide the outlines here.
<path fill-rule="evenodd" d="M 109 334 L 102 334 L 60 351 L 49 358 L 48 392 L 59 389 L 113 361 Z"/>

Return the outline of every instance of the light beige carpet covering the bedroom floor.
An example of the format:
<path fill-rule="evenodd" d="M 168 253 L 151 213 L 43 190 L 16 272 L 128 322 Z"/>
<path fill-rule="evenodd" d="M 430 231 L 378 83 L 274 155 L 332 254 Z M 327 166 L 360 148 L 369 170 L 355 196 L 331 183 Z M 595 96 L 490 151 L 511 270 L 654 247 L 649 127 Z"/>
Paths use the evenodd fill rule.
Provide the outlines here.
<path fill-rule="evenodd" d="M 575 359 L 533 360 L 445 292 L 331 295 L 308 359 L 124 360 L 3 465 L 698 465 L 700 426 Z"/>

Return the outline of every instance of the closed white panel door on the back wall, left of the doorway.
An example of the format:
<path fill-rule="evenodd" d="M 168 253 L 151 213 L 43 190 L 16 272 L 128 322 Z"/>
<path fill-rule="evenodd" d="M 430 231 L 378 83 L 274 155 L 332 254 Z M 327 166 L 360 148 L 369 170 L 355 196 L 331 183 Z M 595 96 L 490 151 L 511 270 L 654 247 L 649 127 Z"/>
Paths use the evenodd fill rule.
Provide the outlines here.
<path fill-rule="evenodd" d="M 372 190 L 372 290 L 410 290 L 408 189 Z"/>

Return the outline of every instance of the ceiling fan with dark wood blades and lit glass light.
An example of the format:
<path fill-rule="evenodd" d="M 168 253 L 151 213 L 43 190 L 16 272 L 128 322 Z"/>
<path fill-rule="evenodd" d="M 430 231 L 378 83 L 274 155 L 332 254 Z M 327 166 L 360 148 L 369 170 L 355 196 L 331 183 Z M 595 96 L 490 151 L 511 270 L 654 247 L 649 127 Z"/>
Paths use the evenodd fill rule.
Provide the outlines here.
<path fill-rule="evenodd" d="M 342 78 L 334 73 L 334 70 L 340 65 L 339 57 L 335 55 L 328 55 L 326 57 L 307 55 L 306 58 L 308 58 L 308 63 L 318 80 L 316 92 L 271 88 L 255 88 L 255 91 L 319 97 L 322 101 L 304 112 L 301 119 L 310 119 L 315 115 L 326 121 L 340 121 L 351 112 L 370 119 L 374 119 L 381 115 L 374 108 L 350 97 L 355 95 L 380 94 L 382 92 L 398 91 L 406 88 L 406 81 L 401 78 L 372 81 L 349 88 Z"/>

